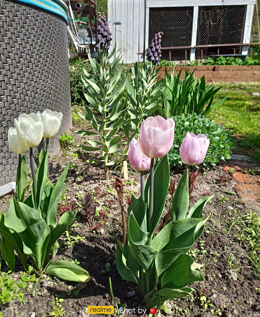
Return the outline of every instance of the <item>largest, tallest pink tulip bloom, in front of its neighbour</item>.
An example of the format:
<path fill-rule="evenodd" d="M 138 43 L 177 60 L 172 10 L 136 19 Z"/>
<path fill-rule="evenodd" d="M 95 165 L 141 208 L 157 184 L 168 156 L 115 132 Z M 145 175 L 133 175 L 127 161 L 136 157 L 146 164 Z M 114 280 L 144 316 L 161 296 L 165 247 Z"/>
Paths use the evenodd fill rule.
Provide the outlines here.
<path fill-rule="evenodd" d="M 173 145 L 175 122 L 161 116 L 149 117 L 141 124 L 139 146 L 149 158 L 162 158 Z"/>

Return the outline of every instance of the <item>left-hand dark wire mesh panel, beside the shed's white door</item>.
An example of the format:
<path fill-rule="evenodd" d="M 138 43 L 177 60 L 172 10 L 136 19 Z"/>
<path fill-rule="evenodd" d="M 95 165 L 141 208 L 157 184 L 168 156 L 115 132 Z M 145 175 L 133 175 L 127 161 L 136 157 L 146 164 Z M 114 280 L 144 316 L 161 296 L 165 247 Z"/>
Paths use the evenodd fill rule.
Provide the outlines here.
<path fill-rule="evenodd" d="M 149 44 L 153 36 L 163 32 L 162 47 L 191 45 L 193 7 L 150 8 Z M 162 58 L 172 61 L 185 59 L 185 49 L 162 50 Z"/>

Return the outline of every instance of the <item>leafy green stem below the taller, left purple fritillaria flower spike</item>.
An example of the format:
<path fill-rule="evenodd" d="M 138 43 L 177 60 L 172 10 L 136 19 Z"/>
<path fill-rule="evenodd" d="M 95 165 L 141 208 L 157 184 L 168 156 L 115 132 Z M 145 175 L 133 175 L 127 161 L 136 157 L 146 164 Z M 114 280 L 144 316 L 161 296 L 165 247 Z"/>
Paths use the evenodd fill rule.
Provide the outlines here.
<path fill-rule="evenodd" d="M 105 179 L 108 179 L 108 167 L 119 160 L 113 154 L 124 144 L 121 140 L 123 134 L 118 133 L 118 130 L 124 121 L 124 117 L 120 117 L 120 115 L 125 111 L 125 102 L 121 102 L 125 92 L 125 80 L 120 83 L 122 66 L 116 70 L 121 57 L 118 56 L 110 63 L 110 59 L 115 53 L 116 47 L 110 54 L 104 49 L 102 51 L 99 49 L 99 56 L 96 58 L 88 52 L 91 66 L 100 76 L 97 79 L 84 69 L 83 92 L 89 106 L 85 105 L 87 114 L 80 112 L 77 114 L 90 121 L 96 132 L 75 131 L 82 136 L 97 135 L 101 138 L 101 142 L 84 140 L 87 145 L 80 145 L 79 148 L 85 151 L 102 151 L 102 159 L 89 159 L 87 162 L 103 162 Z"/>

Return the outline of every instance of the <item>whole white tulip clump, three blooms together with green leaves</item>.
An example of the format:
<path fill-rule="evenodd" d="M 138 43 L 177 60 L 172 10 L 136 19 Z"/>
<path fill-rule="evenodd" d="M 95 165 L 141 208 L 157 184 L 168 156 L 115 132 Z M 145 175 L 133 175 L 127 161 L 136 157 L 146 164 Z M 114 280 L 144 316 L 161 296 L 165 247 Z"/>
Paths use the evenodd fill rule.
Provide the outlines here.
<path fill-rule="evenodd" d="M 6 215 L 0 215 L 1 253 L 11 270 L 14 270 L 14 251 L 16 251 L 22 260 L 24 270 L 27 270 L 26 259 L 27 256 L 30 256 L 39 274 L 42 274 L 45 265 L 46 273 L 59 278 L 78 282 L 88 281 L 90 279 L 88 272 L 74 263 L 55 261 L 49 264 L 49 255 L 52 260 L 59 248 L 58 238 L 68 229 L 76 216 L 75 210 L 67 211 L 57 222 L 58 194 L 63 187 L 70 162 L 55 185 L 48 179 L 48 141 L 58 132 L 61 118 L 61 113 L 50 113 L 50 110 L 37 115 L 22 114 L 15 121 L 15 133 L 13 128 L 10 128 L 10 147 L 19 154 L 17 196 L 16 198 L 12 196 Z M 14 135 L 17 136 L 17 139 L 14 138 Z M 39 145 L 43 135 L 47 139 L 46 149 L 44 151 L 42 148 L 39 153 L 38 169 L 35 173 L 32 147 Z M 20 158 L 21 152 L 25 152 L 25 148 L 21 145 L 27 149 L 30 147 L 33 178 L 32 194 L 25 200 L 27 170 L 25 156 Z"/>

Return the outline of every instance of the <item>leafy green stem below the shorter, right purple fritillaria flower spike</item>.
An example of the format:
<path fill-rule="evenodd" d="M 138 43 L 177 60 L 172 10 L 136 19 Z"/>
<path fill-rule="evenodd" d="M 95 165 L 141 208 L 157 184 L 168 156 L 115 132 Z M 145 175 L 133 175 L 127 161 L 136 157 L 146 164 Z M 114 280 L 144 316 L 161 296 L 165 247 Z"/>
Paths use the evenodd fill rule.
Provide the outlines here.
<path fill-rule="evenodd" d="M 123 130 L 128 140 L 124 161 L 128 157 L 130 140 L 136 138 L 140 132 L 141 122 L 156 112 L 163 102 L 165 81 L 156 80 L 161 68 L 147 63 L 146 57 L 143 59 L 142 67 L 138 67 L 136 62 L 134 67 L 130 68 L 131 78 L 126 79 L 127 108 L 123 113 Z"/>

